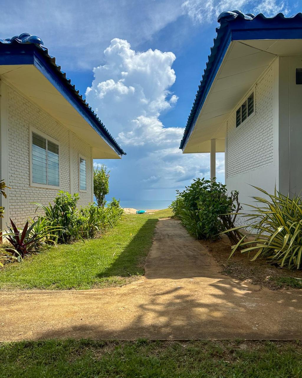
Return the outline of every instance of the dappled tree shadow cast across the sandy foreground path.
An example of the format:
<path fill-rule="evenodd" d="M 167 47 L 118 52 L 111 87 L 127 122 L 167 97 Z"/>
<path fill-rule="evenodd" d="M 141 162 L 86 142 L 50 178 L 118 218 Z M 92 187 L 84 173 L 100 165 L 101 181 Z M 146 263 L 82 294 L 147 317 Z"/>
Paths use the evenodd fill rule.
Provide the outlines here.
<path fill-rule="evenodd" d="M 160 290 L 143 299 L 137 297 L 131 312 L 120 316 L 112 307 L 98 316 L 83 315 L 83 324 L 70 319 L 70 325 L 55 323 L 47 330 L 37 330 L 40 338 L 92 338 L 92 339 L 301 339 L 302 326 L 296 319 L 301 305 L 295 293 L 271 291 L 266 301 L 251 285 L 235 280 L 220 279 L 209 285 L 212 293 L 196 295 L 183 287 Z M 202 291 L 202 288 L 200 288 Z M 125 294 L 125 293 L 124 293 Z M 150 294 L 150 293 L 149 293 Z M 83 295 L 83 298 L 80 296 Z M 128 295 L 131 295 L 128 292 Z M 85 298 L 80 294 L 79 301 Z M 114 301 L 122 306 L 120 294 Z M 124 306 L 127 301 L 124 300 Z M 99 308 L 107 304 L 100 300 Z M 88 307 L 88 306 L 87 306 Z M 79 314 L 82 309 L 79 310 Z M 92 316 L 91 316 L 92 315 Z M 82 319 L 81 319 L 82 320 Z"/>

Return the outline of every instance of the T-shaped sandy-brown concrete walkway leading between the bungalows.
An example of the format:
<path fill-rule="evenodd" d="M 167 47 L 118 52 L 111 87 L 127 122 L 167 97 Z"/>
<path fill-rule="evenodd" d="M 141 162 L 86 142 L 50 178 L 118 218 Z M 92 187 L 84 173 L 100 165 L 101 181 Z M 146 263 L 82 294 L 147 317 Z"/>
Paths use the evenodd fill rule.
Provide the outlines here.
<path fill-rule="evenodd" d="M 1 292 L 0 340 L 302 339 L 302 291 L 242 283 L 176 220 L 157 223 L 143 280 L 85 291 Z"/>

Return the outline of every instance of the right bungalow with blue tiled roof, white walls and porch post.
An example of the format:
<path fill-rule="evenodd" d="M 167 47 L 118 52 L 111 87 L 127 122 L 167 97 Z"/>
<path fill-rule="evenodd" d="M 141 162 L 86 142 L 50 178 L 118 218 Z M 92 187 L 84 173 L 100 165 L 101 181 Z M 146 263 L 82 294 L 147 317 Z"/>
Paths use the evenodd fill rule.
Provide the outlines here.
<path fill-rule="evenodd" d="M 302 14 L 223 12 L 180 149 L 225 152 L 225 183 L 243 203 L 252 184 L 302 190 Z"/>

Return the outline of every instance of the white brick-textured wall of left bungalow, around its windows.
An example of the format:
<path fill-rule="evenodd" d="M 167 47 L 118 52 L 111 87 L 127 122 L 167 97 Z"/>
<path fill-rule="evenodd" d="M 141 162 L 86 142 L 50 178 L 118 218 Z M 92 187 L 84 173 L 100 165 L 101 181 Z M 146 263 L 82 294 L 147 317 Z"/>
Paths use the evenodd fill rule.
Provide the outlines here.
<path fill-rule="evenodd" d="M 9 217 L 23 223 L 34 216 L 35 206 L 31 202 L 48 204 L 58 190 L 70 192 L 69 130 L 52 119 L 47 113 L 28 99 L 8 87 L 8 170 L 9 170 Z M 30 186 L 29 177 L 29 129 L 34 127 L 60 143 L 60 188 L 46 189 Z M 87 156 L 87 192 L 80 192 L 80 205 L 91 202 L 91 149 L 74 134 L 73 166 L 74 192 L 79 191 L 79 153 Z M 90 183 L 90 184 L 89 184 Z"/>

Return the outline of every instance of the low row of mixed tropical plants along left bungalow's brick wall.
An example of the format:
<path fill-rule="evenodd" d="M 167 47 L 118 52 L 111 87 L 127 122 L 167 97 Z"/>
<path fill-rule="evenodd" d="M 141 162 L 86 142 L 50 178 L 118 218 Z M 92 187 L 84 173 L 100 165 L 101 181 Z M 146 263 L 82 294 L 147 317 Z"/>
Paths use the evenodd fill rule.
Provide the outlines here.
<path fill-rule="evenodd" d="M 17 228 L 11 220 L 6 235 L 14 249 L 10 246 L 0 249 L 0 266 L 15 259 L 22 260 L 26 254 L 37 252 L 49 244 L 94 238 L 113 228 L 121 219 L 123 209 L 115 198 L 112 198 L 108 208 L 91 203 L 78 209 L 78 201 L 79 194 L 60 191 L 54 205 L 35 203 L 36 212 L 40 209 L 43 214 L 36 216 L 30 224 L 26 222 L 23 228 Z"/>

